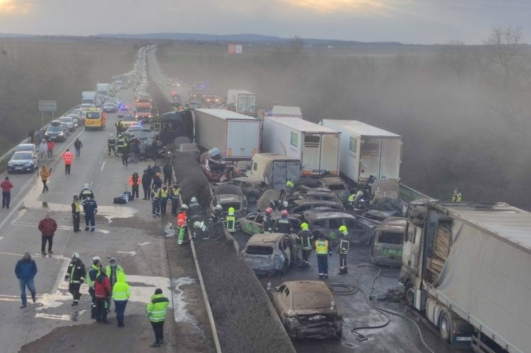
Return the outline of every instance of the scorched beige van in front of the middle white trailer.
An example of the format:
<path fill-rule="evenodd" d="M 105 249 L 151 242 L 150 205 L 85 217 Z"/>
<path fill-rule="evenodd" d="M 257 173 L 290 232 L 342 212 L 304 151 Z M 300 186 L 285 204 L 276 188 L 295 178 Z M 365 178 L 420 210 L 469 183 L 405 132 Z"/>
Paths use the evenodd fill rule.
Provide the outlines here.
<path fill-rule="evenodd" d="M 288 180 L 296 183 L 300 179 L 300 160 L 280 153 L 257 153 L 252 156 L 247 177 L 277 190 L 285 189 Z"/>

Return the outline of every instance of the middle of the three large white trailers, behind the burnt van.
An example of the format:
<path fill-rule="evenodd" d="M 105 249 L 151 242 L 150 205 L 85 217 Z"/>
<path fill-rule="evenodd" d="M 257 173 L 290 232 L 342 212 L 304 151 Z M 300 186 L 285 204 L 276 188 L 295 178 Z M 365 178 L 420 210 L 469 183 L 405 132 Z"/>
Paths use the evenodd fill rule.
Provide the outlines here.
<path fill-rule="evenodd" d="M 303 175 L 339 174 L 339 131 L 293 117 L 264 116 L 262 124 L 264 152 L 297 158 Z"/>

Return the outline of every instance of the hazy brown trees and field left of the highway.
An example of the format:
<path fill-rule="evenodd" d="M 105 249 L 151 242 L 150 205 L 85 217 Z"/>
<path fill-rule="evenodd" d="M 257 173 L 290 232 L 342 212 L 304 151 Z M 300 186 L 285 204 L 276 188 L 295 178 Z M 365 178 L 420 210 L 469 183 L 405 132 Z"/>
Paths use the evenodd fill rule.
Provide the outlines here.
<path fill-rule="evenodd" d="M 0 40 L 0 150 L 40 128 L 39 100 L 56 100 L 57 117 L 81 102 L 83 90 L 132 69 L 134 43 L 67 38 Z M 45 124 L 52 119 L 45 113 Z"/>

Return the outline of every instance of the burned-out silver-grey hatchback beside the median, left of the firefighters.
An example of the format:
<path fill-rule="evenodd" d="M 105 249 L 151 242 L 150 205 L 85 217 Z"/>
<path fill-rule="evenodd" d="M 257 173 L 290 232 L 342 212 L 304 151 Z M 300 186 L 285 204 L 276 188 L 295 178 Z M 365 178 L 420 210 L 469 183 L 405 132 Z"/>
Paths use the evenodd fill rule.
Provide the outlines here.
<path fill-rule="evenodd" d="M 240 256 L 257 275 L 285 275 L 297 260 L 295 234 L 259 233 L 250 237 Z"/>

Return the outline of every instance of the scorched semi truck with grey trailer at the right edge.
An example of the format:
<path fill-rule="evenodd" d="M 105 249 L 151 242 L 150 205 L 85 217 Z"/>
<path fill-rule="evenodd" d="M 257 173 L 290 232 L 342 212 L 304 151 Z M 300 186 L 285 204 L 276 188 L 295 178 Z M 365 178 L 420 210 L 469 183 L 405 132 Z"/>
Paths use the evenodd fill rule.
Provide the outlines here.
<path fill-rule="evenodd" d="M 506 203 L 409 205 L 399 280 L 456 349 L 530 352 L 531 213 Z"/>

